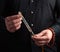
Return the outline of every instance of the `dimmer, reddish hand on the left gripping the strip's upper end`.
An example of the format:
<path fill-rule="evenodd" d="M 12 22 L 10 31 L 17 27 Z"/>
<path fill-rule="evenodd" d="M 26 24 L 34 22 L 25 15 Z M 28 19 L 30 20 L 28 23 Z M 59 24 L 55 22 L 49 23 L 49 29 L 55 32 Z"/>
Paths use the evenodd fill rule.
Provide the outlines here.
<path fill-rule="evenodd" d="M 6 28 L 9 32 L 15 32 L 20 29 L 22 23 L 22 14 L 19 12 L 17 15 L 8 16 L 5 18 Z"/>

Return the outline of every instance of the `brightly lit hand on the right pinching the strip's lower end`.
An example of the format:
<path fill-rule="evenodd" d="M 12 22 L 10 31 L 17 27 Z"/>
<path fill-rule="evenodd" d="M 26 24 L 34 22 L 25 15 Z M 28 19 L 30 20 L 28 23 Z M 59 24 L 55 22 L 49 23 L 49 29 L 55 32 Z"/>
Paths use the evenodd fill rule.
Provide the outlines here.
<path fill-rule="evenodd" d="M 52 32 L 49 29 L 43 30 L 38 34 L 33 35 L 32 39 L 34 40 L 35 44 L 38 46 L 46 45 L 52 39 Z"/>

